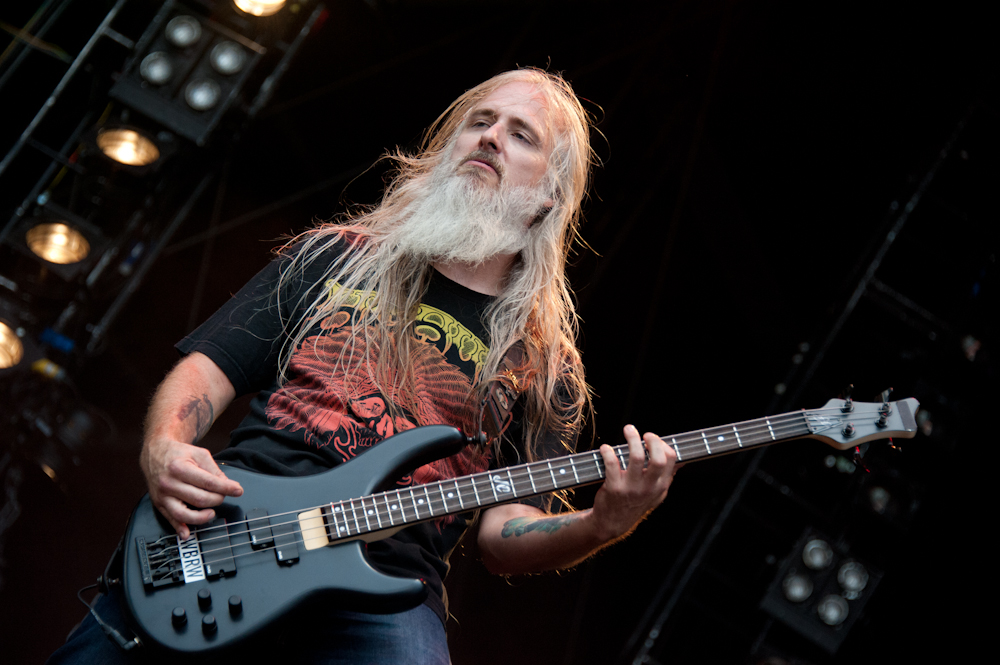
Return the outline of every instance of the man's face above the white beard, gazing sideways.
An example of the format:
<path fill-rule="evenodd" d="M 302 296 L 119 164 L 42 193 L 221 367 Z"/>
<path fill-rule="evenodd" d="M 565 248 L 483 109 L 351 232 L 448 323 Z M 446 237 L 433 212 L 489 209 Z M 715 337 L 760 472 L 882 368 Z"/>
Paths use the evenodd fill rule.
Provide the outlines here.
<path fill-rule="evenodd" d="M 533 188 L 545 177 L 551 152 L 545 97 L 530 83 L 508 83 L 472 109 L 451 158 L 460 174 L 494 186 Z"/>

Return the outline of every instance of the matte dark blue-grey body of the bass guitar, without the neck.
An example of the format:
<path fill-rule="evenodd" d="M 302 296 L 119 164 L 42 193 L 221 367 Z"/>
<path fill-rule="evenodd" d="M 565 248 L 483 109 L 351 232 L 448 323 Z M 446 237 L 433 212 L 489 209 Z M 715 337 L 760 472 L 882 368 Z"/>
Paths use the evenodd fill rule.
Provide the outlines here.
<path fill-rule="evenodd" d="M 148 556 L 143 556 L 144 550 L 148 552 L 148 546 L 159 541 L 176 552 L 178 543 L 172 527 L 153 508 L 149 496 L 143 497 L 132 513 L 124 540 L 123 586 L 133 627 L 146 644 L 178 653 L 201 653 L 243 642 L 320 597 L 339 608 L 364 612 L 416 607 L 427 595 L 425 583 L 385 575 L 372 568 L 362 540 L 307 549 L 300 536 L 292 534 L 283 539 L 281 525 L 290 521 L 297 525 L 296 515 L 303 506 L 329 505 L 369 495 L 421 464 L 454 454 L 466 443 L 466 437 L 455 428 L 431 426 L 386 439 L 349 464 L 314 476 L 277 477 L 224 466 L 226 475 L 244 489 L 241 497 L 227 497 L 216 508 L 217 518 L 237 525 L 228 527 L 226 536 L 227 551 L 234 556 L 216 566 L 221 570 L 211 571 L 215 576 L 200 580 L 175 579 L 158 586 L 149 583 L 149 569 L 156 565 L 155 559 L 151 565 Z M 248 531 L 246 521 L 260 515 L 261 510 L 269 518 L 262 517 L 256 524 L 264 528 L 254 529 L 255 522 L 250 521 Z M 217 523 L 219 519 L 213 524 Z M 216 526 L 211 532 L 219 531 Z M 208 531 L 196 531 L 203 532 Z M 264 532 L 279 546 L 272 543 L 254 549 L 249 532 L 265 540 L 267 536 L 259 537 Z M 199 538 L 203 539 L 203 552 L 218 549 L 216 536 Z M 282 540 L 290 546 L 280 547 Z M 297 557 L 295 561 L 291 561 L 289 552 Z M 286 561 L 279 561 L 281 555 Z M 211 557 L 203 556 L 205 560 Z M 199 592 L 207 592 L 209 597 L 199 598 Z M 231 597 L 238 597 L 238 608 L 231 610 Z M 175 618 L 181 612 L 183 619 Z"/>

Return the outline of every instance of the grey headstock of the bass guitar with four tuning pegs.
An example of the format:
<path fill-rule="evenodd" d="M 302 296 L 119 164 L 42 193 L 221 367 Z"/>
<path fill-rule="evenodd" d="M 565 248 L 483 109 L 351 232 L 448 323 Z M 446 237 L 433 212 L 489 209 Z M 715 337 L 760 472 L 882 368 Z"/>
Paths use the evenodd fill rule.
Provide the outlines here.
<path fill-rule="evenodd" d="M 910 397 L 896 402 L 832 399 L 820 409 L 804 411 L 811 439 L 847 450 L 877 439 L 912 439 L 917 434 L 917 407 Z"/>

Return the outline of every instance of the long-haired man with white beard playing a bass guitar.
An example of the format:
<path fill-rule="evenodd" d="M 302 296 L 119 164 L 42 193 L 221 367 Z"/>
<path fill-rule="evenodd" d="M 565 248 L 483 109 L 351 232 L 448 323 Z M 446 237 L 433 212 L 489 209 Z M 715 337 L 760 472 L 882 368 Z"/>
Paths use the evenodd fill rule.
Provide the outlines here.
<path fill-rule="evenodd" d="M 592 163 L 589 130 L 558 76 L 523 69 L 476 86 L 416 155 L 391 156 L 398 171 L 378 206 L 295 238 L 182 340 L 184 357 L 150 406 L 141 456 L 152 503 L 177 535 L 186 539 L 244 493 L 220 463 L 307 476 L 432 424 L 493 439 L 395 487 L 572 451 L 590 400 L 564 264 Z M 519 397 L 491 429 L 483 404 L 497 381 Z M 213 459 L 197 442 L 235 397 L 254 392 L 230 447 Z M 282 659 L 450 662 L 443 580 L 474 520 L 489 570 L 519 574 L 578 564 L 663 501 L 674 451 L 631 426 L 624 437 L 636 461 L 623 468 L 602 446 L 606 480 L 591 509 L 505 503 L 369 543 L 372 566 L 423 579 L 427 600 L 388 614 L 321 606 L 276 638 Z M 97 609 L 115 616 L 116 605 L 105 597 Z M 53 662 L 141 662 L 142 651 L 119 651 L 88 618 Z"/>

